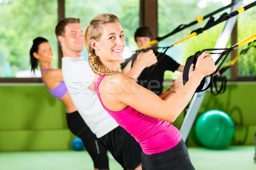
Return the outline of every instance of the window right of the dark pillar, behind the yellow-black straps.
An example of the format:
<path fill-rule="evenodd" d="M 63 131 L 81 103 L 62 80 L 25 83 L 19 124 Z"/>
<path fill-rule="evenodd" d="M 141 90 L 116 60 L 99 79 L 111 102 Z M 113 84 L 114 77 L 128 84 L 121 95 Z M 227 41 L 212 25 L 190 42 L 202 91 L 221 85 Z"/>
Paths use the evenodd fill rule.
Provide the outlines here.
<path fill-rule="evenodd" d="M 242 6 L 246 6 L 252 3 L 254 0 L 244 0 Z M 200 15 L 205 16 L 221 7 L 227 6 L 231 3 L 229 1 L 221 0 L 181 0 L 181 1 L 165 1 L 158 0 L 158 36 L 163 37 L 169 32 L 173 31 L 180 24 L 189 24 L 195 21 Z M 182 8 L 181 8 L 182 6 Z M 254 7 L 255 8 L 255 7 Z M 255 10 L 248 9 L 244 13 L 238 15 L 238 41 L 244 39 L 245 37 L 253 34 L 255 30 L 256 17 L 253 15 Z M 231 8 L 227 8 L 218 14 L 213 15 L 216 19 L 219 18 L 219 14 L 227 12 L 230 14 Z M 177 40 L 189 35 L 193 30 L 198 28 L 203 28 L 209 18 L 203 20 L 201 23 L 195 24 L 189 28 L 184 29 L 172 36 L 160 41 L 158 46 L 169 46 Z M 226 22 L 222 22 L 208 30 L 204 31 L 202 34 L 198 34 L 196 37 L 191 37 L 183 42 L 174 45 L 167 51 L 167 54 L 179 62 L 181 65 L 185 65 L 186 59 L 195 54 L 196 51 L 201 51 L 205 48 L 214 48 L 215 42 L 218 39 L 218 35 L 221 33 Z M 233 45 L 233 44 L 232 44 Z M 227 48 L 231 47 L 231 42 L 227 43 Z M 225 48 L 225 47 L 223 47 Z M 239 49 L 241 51 L 243 48 Z M 250 49 L 247 55 L 244 55 L 243 59 L 238 61 L 238 76 L 255 76 L 256 75 L 256 51 L 255 49 Z M 231 60 L 231 55 L 229 55 L 227 62 Z M 234 67 L 236 67 L 234 65 Z M 164 79 L 176 79 L 180 73 L 171 71 L 165 72 Z M 228 79 L 231 78 L 231 69 L 228 69 L 225 74 Z"/>

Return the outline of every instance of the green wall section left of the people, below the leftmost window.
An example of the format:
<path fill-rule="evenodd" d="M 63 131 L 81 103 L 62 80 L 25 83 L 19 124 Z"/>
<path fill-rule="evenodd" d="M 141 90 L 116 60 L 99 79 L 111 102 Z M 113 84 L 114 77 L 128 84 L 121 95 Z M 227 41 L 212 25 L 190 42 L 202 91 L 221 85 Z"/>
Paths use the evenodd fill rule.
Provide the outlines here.
<path fill-rule="evenodd" d="M 69 150 L 65 106 L 37 85 L 0 86 L 0 151 Z"/>

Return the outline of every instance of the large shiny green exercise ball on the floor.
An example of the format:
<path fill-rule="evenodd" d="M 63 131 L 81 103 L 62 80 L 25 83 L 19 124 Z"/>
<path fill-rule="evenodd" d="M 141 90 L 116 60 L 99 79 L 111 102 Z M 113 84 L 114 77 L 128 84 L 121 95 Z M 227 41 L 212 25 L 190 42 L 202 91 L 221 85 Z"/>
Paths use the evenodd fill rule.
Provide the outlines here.
<path fill-rule="evenodd" d="M 226 147 L 233 139 L 235 125 L 224 111 L 210 110 L 199 116 L 195 124 L 195 135 L 205 147 Z"/>

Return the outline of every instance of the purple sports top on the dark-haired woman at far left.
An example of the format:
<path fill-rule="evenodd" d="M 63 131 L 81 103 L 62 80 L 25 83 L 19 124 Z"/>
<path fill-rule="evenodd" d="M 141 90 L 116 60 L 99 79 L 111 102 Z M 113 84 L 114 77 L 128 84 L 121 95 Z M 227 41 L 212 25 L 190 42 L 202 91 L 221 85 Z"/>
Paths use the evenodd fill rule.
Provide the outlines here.
<path fill-rule="evenodd" d="M 43 74 L 44 71 L 46 70 L 51 70 L 51 68 L 44 68 L 41 71 L 41 74 Z M 42 79 L 42 78 L 41 78 Z M 42 79 L 42 81 L 44 82 L 44 80 Z M 47 88 L 47 90 L 52 94 L 52 96 L 55 96 L 57 99 L 60 99 L 61 97 L 63 97 L 65 94 L 68 93 L 67 91 L 67 87 L 65 85 L 64 82 L 60 82 L 54 89 L 49 90 Z"/>

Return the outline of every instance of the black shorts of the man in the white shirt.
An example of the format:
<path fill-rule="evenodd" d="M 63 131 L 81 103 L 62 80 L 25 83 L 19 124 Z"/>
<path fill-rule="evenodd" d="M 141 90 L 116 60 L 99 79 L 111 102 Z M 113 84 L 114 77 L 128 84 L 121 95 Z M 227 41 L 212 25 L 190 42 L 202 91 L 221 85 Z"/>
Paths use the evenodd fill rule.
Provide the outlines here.
<path fill-rule="evenodd" d="M 123 168 L 134 170 L 141 163 L 140 144 L 121 126 L 99 138 Z"/>

